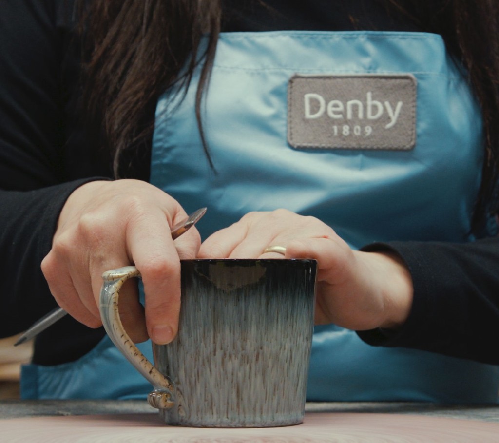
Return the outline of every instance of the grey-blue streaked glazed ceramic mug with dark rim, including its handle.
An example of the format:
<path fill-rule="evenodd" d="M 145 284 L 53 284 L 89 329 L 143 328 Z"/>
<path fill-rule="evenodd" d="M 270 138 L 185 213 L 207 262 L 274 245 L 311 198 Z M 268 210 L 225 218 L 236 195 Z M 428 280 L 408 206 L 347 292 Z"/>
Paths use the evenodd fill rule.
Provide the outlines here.
<path fill-rule="evenodd" d="M 153 344 L 154 364 L 137 349 L 118 313 L 134 266 L 104 273 L 104 327 L 153 385 L 148 396 L 165 423 L 193 427 L 272 427 L 303 421 L 313 333 L 316 261 L 181 261 L 176 338 Z"/>

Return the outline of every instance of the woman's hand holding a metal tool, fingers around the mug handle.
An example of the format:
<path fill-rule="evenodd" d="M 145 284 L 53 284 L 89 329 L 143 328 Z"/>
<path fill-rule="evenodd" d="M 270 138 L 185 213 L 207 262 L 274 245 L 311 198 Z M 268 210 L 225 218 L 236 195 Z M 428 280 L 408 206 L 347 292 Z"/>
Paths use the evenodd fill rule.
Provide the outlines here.
<path fill-rule="evenodd" d="M 171 341 L 180 312 L 179 260 L 194 258 L 201 242 L 194 227 L 173 242 L 171 226 L 186 217 L 177 201 L 146 182 L 95 181 L 77 188 L 41 263 L 59 306 L 89 327 L 102 325 L 102 273 L 134 264 L 147 294 L 146 323 L 131 281 L 120 291 L 122 323 L 136 342 L 148 336 L 159 344 Z"/>

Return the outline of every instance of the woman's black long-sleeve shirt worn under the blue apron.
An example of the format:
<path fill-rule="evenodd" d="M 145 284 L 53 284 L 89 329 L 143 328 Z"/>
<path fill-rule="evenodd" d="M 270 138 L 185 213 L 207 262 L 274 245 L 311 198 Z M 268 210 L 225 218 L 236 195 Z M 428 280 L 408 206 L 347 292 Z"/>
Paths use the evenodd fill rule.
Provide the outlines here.
<path fill-rule="evenodd" d="M 419 30 L 374 0 L 226 1 L 225 31 Z M 71 1 L 0 2 L 0 336 L 25 330 L 56 306 L 40 270 L 59 212 L 82 183 L 112 178 L 108 156 L 79 115 L 80 59 Z M 154 115 L 150 116 L 151 119 Z M 147 180 L 149 153 L 130 177 Z M 374 247 L 374 246 L 373 246 Z M 414 304 L 397 332 L 359 333 L 368 343 L 407 346 L 499 364 L 499 239 L 469 244 L 393 242 L 414 282 Z M 104 335 L 69 316 L 41 333 L 33 361 L 57 364 Z"/>

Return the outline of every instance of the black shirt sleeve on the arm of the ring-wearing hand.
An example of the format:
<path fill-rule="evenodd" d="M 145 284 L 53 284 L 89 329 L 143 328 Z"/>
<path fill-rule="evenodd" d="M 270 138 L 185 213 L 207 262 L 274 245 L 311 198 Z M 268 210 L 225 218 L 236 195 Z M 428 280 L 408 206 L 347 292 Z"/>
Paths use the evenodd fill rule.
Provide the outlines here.
<path fill-rule="evenodd" d="M 376 243 L 362 250 L 398 253 L 414 285 L 406 323 L 358 331 L 363 341 L 499 364 L 499 238 Z"/>

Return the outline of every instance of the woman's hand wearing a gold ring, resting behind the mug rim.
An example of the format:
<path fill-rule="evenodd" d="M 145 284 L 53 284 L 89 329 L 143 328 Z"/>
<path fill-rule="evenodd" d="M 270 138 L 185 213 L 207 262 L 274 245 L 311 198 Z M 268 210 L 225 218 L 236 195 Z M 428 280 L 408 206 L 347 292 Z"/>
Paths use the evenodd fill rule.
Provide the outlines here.
<path fill-rule="evenodd" d="M 356 330 L 396 328 L 409 315 L 413 287 L 402 260 L 352 250 L 332 228 L 313 217 L 282 209 L 249 213 L 207 238 L 198 256 L 282 258 L 263 252 L 270 245 L 284 246 L 285 258 L 317 260 L 317 324 Z"/>

